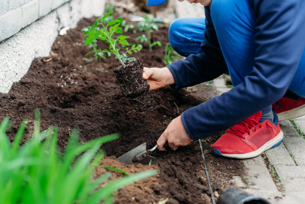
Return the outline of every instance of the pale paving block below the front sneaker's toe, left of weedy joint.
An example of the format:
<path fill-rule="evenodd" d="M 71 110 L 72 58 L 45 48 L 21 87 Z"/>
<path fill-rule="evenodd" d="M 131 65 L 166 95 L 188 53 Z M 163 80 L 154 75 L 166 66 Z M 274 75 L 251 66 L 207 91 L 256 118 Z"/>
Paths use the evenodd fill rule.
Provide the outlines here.
<path fill-rule="evenodd" d="M 243 160 L 247 167 L 247 180 L 249 189 L 269 190 L 277 192 L 269 171 L 261 156 Z"/>

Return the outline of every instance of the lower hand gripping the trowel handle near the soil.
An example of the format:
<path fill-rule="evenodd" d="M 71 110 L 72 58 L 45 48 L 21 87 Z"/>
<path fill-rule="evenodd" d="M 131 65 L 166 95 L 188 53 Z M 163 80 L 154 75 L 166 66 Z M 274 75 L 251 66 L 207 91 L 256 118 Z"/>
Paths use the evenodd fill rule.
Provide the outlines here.
<path fill-rule="evenodd" d="M 183 127 L 181 116 L 173 119 L 159 137 L 157 141 L 158 150 L 165 150 L 163 145 L 166 143 L 166 141 L 168 142 L 168 146 L 171 150 L 176 150 L 179 146 L 186 146 L 192 141 Z"/>

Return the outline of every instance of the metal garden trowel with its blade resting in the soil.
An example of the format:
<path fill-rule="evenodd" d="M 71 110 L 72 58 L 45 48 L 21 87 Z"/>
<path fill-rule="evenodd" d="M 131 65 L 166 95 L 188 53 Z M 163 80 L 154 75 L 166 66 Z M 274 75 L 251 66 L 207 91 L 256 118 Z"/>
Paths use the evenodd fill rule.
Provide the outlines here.
<path fill-rule="evenodd" d="M 118 158 L 118 160 L 125 164 L 133 164 L 133 163 L 141 163 L 144 165 L 154 164 L 156 162 L 156 158 L 152 157 L 151 154 L 153 151 L 157 149 L 157 146 L 154 146 L 150 150 L 146 150 L 146 143 L 139 145 L 135 149 L 132 149 L 128 153 L 122 155 Z"/>

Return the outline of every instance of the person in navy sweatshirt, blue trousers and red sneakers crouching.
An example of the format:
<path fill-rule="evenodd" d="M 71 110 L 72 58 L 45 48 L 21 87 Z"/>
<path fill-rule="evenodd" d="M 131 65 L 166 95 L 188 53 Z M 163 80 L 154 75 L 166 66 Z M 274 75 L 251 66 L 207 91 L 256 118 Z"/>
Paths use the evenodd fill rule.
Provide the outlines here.
<path fill-rule="evenodd" d="M 280 120 L 305 115 L 305 1 L 188 1 L 203 4 L 206 17 L 177 19 L 169 28 L 171 46 L 186 59 L 145 68 L 143 78 L 153 90 L 229 73 L 234 88 L 173 119 L 158 149 L 167 141 L 176 150 L 226 129 L 212 145 L 213 154 L 252 158 L 279 145 L 283 132 L 277 114 Z"/>

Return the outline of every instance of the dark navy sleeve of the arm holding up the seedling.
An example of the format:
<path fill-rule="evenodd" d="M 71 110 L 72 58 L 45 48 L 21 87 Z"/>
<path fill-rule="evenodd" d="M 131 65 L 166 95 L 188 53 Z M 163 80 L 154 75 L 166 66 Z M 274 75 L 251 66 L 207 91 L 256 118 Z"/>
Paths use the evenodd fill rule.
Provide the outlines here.
<path fill-rule="evenodd" d="M 228 71 L 220 50 L 215 28 L 210 16 L 210 8 L 205 7 L 204 42 L 197 54 L 191 54 L 186 59 L 173 62 L 167 67 L 171 71 L 175 84 L 172 88 L 193 86 L 209 81 Z"/>

